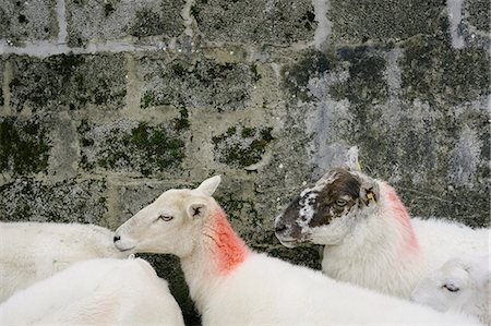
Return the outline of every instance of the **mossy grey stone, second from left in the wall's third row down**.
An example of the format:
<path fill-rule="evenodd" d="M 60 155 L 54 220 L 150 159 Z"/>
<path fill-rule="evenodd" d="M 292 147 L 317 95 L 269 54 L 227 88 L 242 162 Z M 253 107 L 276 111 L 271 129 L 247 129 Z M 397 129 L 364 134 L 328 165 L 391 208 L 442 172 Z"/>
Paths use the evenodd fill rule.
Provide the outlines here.
<path fill-rule="evenodd" d="M 109 123 L 83 120 L 79 126 L 81 167 L 87 171 L 99 168 L 143 176 L 181 171 L 185 133 L 179 132 L 176 123 L 152 125 L 129 120 Z"/>

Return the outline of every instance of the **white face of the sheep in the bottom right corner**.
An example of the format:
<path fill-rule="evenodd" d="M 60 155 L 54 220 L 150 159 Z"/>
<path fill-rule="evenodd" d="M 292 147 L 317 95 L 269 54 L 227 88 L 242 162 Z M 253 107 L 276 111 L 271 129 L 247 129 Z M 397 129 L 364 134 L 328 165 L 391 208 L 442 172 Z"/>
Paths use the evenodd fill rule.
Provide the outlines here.
<path fill-rule="evenodd" d="M 469 268 L 458 261 L 450 261 L 442 268 L 430 273 L 416 287 L 411 300 L 438 311 L 465 311 L 478 289 Z"/>

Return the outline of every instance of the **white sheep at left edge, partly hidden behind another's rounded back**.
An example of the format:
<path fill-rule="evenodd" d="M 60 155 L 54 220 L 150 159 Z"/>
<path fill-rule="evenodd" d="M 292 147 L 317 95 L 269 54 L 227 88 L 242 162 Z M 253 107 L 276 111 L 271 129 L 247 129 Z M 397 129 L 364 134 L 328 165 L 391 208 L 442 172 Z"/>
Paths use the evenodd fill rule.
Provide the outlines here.
<path fill-rule="evenodd" d="M 0 222 L 0 302 L 70 264 L 127 257 L 106 228 L 81 224 Z"/>

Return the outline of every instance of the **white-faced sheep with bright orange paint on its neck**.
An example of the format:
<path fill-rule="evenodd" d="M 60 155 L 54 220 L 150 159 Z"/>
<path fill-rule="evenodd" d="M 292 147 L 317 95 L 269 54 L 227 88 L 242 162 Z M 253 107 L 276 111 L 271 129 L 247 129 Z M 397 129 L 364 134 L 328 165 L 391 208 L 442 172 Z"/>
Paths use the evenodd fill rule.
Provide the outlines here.
<path fill-rule="evenodd" d="M 113 239 L 122 252 L 177 255 L 203 325 L 477 323 L 251 251 L 212 197 L 219 182 L 164 192 Z"/>

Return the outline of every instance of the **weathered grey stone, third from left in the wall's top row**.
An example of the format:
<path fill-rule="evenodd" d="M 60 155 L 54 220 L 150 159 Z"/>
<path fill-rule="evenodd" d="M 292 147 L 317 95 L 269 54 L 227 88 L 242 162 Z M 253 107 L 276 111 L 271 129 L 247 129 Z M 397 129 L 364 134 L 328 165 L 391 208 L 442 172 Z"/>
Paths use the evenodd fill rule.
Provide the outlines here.
<path fill-rule="evenodd" d="M 197 0 L 191 14 L 208 41 L 290 45 L 313 40 L 316 27 L 308 0 Z"/>

